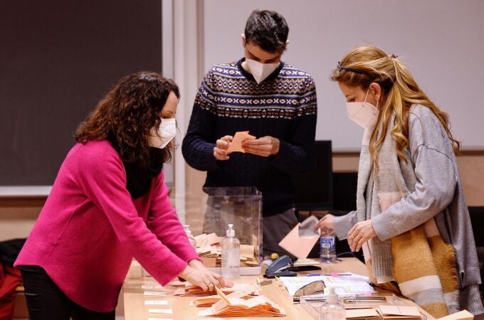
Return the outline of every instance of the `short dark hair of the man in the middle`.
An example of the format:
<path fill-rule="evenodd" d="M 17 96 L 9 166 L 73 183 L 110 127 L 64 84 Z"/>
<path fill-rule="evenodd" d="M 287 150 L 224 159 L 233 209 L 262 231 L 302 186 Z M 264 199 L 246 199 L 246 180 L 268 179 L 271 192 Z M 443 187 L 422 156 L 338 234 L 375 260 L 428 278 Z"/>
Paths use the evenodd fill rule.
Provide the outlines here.
<path fill-rule="evenodd" d="M 254 10 L 246 22 L 246 43 L 254 43 L 268 52 L 282 54 L 288 41 L 289 27 L 275 11 Z"/>

